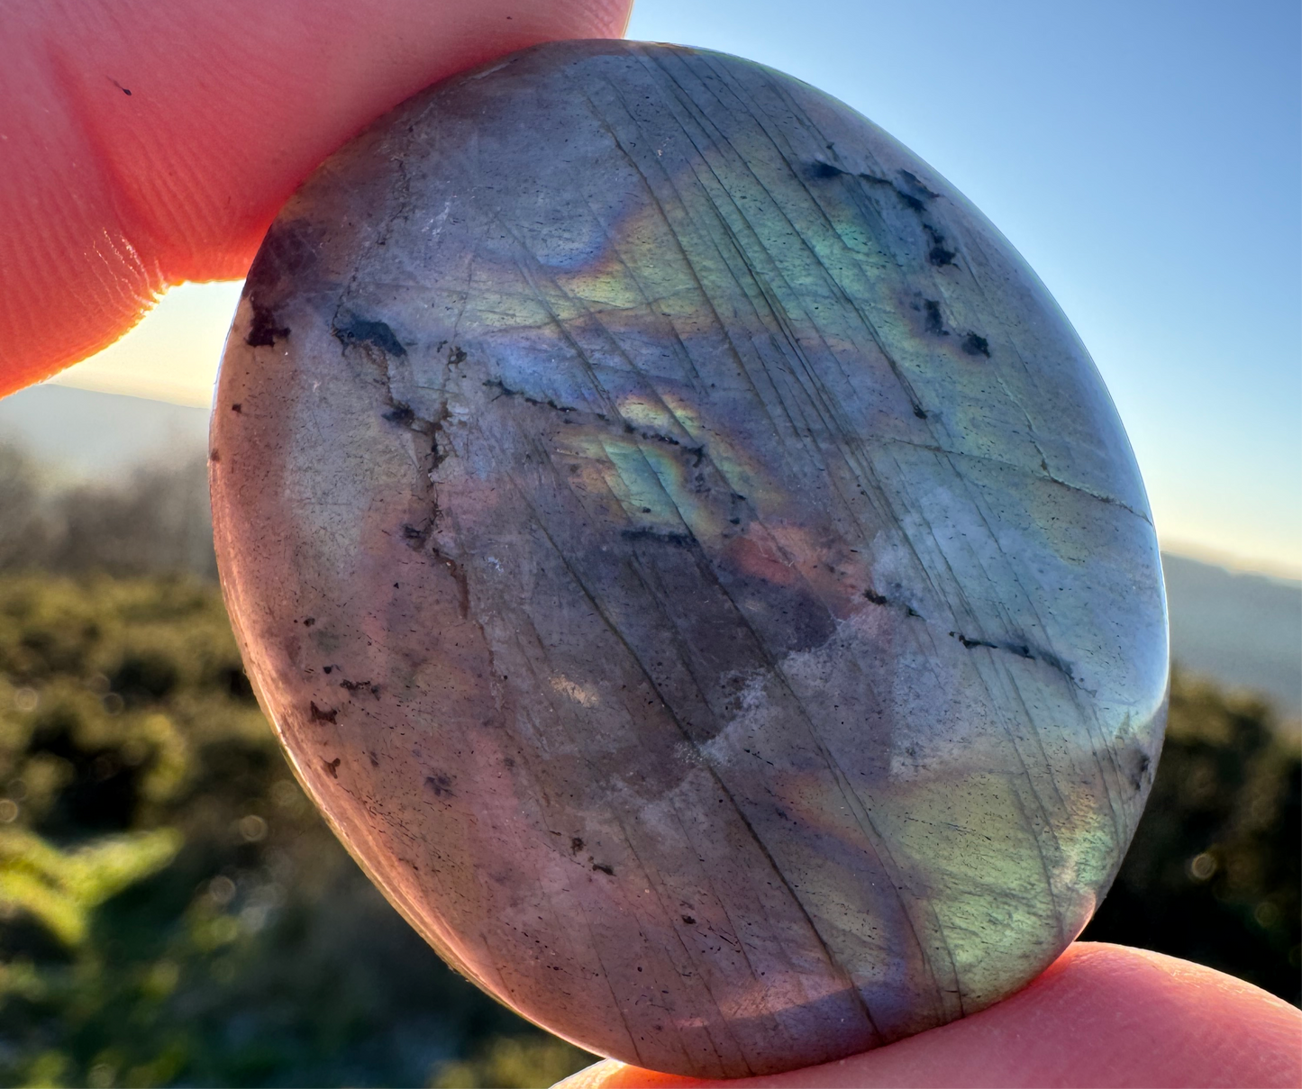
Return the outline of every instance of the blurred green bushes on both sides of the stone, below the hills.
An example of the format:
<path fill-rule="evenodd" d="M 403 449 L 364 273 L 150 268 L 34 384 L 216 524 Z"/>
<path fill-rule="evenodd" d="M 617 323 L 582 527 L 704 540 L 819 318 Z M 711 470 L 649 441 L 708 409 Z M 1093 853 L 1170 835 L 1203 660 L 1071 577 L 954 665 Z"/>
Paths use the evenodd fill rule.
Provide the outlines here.
<path fill-rule="evenodd" d="M 1302 1004 L 1302 755 L 1174 678 L 1087 938 Z M 590 1056 L 448 971 L 309 804 L 187 575 L 0 576 L 0 1084 L 542 1089 Z"/>

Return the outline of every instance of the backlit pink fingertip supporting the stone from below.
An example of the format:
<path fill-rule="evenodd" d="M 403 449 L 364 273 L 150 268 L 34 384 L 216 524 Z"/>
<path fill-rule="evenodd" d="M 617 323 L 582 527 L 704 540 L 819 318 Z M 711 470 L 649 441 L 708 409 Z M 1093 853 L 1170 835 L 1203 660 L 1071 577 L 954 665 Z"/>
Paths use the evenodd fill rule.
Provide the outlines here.
<path fill-rule="evenodd" d="M 1297 1089 L 1302 1011 L 1184 960 L 1078 943 L 1012 998 L 838 1063 L 706 1082 L 598 1063 L 564 1089 Z M 557 1089 L 561 1089 L 557 1086 Z"/>

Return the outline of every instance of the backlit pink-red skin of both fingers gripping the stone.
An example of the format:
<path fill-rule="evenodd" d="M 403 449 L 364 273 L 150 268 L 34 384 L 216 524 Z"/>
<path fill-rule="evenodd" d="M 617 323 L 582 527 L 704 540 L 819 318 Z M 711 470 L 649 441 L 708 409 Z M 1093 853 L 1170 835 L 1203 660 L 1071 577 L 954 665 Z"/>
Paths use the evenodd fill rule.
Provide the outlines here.
<path fill-rule="evenodd" d="M 10 0 L 0 392 L 111 343 L 171 284 L 241 277 L 305 174 L 415 90 L 626 18 L 622 0 Z M 600 1064 L 569 1084 L 689 1082 Z M 754 1084 L 1295 1089 L 1302 1011 L 1193 964 L 1077 945 L 973 1017 Z"/>

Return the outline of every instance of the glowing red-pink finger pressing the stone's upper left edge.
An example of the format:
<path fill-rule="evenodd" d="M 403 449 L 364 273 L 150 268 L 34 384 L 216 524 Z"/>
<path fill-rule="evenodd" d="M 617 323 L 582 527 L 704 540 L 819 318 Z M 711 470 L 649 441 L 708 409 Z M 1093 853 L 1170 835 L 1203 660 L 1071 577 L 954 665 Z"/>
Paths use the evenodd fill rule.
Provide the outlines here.
<path fill-rule="evenodd" d="M 333 148 L 421 87 L 631 0 L 17 0 L 0 8 L 0 394 L 158 291 L 243 276 Z"/>

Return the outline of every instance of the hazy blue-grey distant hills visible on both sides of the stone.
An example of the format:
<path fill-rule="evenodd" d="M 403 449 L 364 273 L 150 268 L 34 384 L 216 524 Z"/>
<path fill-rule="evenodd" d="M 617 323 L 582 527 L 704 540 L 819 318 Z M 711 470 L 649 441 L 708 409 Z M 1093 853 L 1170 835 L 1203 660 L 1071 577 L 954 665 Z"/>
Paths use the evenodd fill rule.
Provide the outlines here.
<path fill-rule="evenodd" d="M 43 385 L 0 399 L 0 444 L 62 474 L 100 477 L 176 463 L 207 442 L 203 409 Z M 1174 660 L 1269 696 L 1302 719 L 1302 583 L 1165 554 Z"/>

